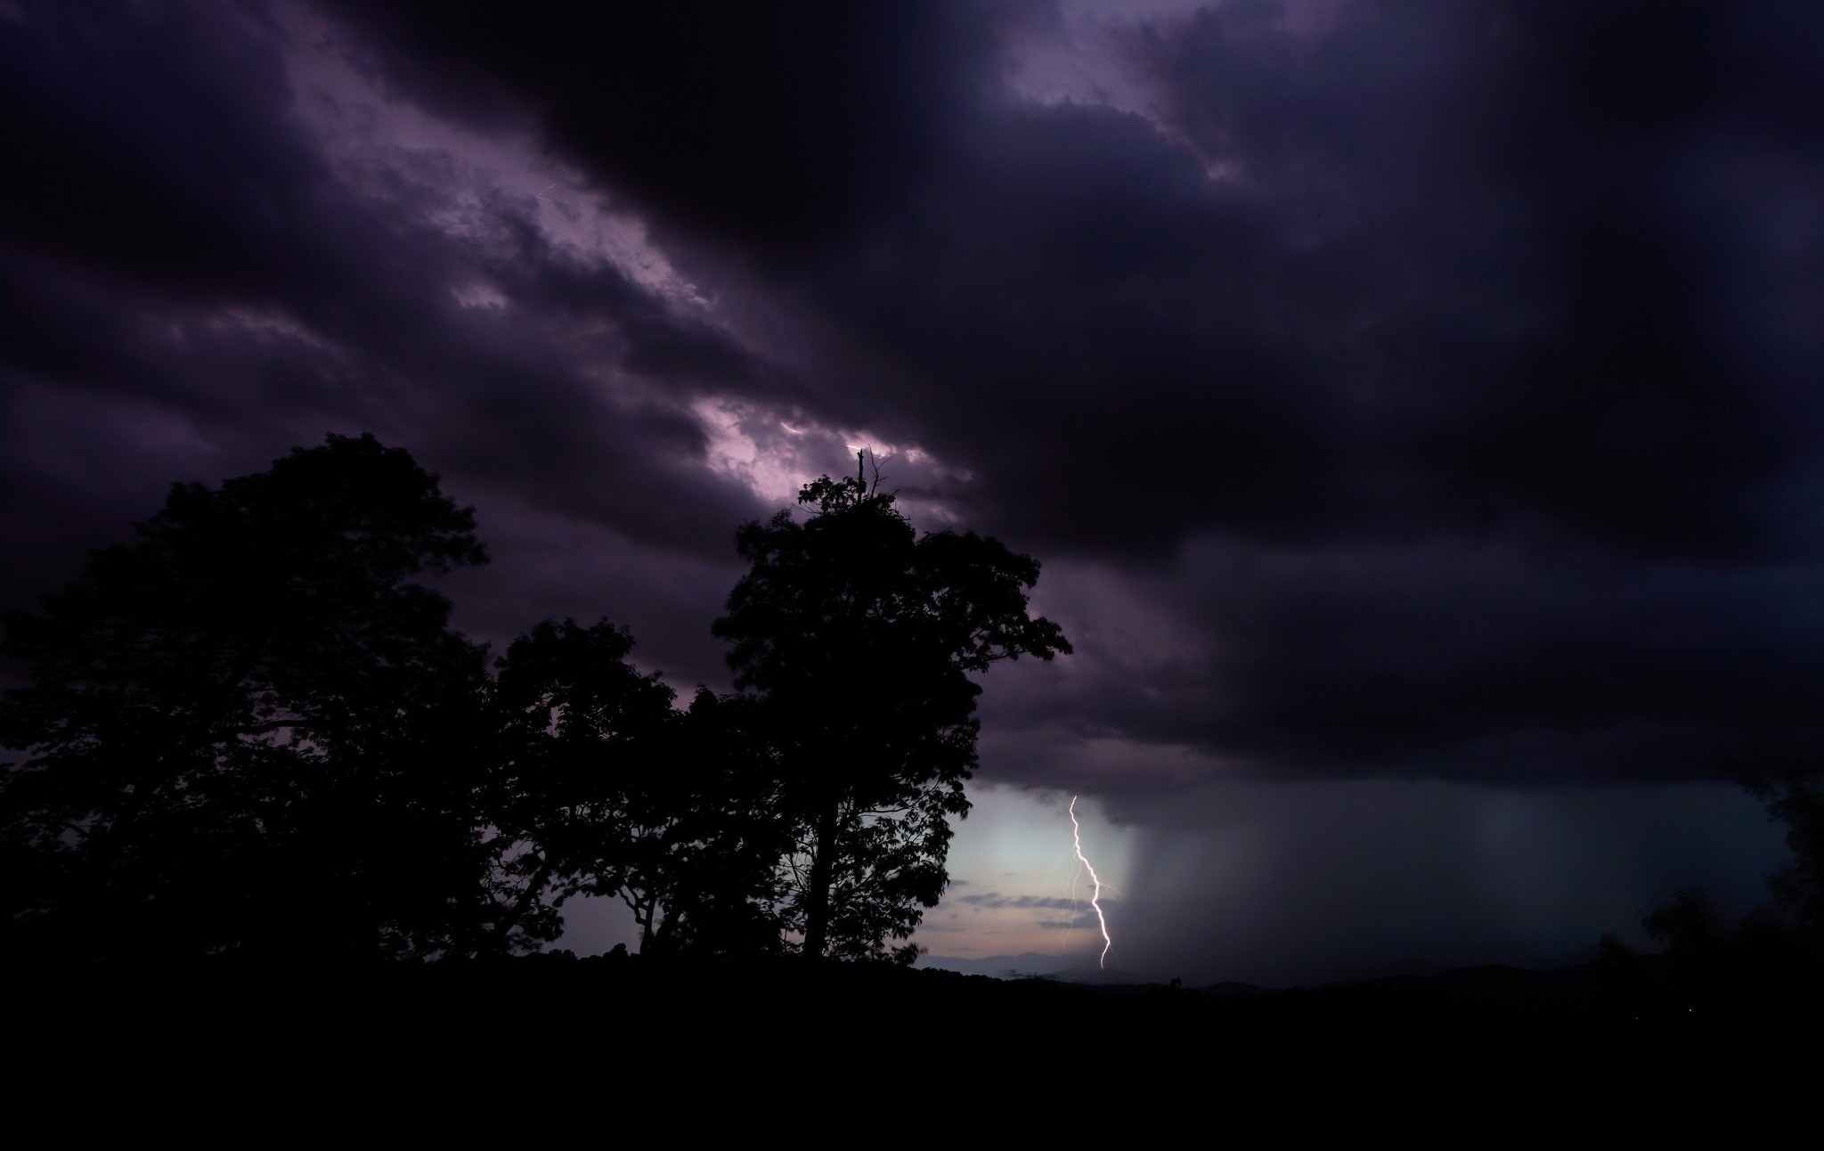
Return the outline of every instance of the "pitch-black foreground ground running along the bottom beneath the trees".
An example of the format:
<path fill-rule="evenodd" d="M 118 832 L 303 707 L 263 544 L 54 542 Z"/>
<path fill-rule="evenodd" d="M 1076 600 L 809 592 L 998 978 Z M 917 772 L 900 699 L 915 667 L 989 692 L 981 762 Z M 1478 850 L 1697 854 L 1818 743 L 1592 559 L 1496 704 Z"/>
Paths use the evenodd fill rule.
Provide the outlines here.
<path fill-rule="evenodd" d="M 1107 1105 L 1211 1107 L 1288 1133 L 1372 1115 L 1384 1131 L 1408 1111 L 1432 1124 L 1468 1107 L 1479 1129 L 1567 1109 L 1620 1133 L 1817 1094 L 1817 996 L 1698 1003 L 1651 972 L 1612 976 L 1468 969 L 1249 992 L 564 954 L 36 969 L 7 976 L 20 1069 L 9 1087 L 15 1113 L 73 1093 L 133 1100 L 151 1127 L 361 1111 L 441 1131 L 525 1125 L 520 1142 L 545 1142 L 536 1129 L 556 1118 L 609 1122 L 627 1107 L 675 1131 L 872 1116 L 866 1138 L 835 1142 L 877 1142 L 981 1100 L 1036 1107 L 1040 1127 Z"/>

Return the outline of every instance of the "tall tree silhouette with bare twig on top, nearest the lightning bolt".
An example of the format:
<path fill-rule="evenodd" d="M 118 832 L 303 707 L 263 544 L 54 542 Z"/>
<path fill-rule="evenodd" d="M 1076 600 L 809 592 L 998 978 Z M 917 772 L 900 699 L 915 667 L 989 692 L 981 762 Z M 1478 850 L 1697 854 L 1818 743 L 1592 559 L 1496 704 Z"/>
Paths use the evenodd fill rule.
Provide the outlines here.
<path fill-rule="evenodd" d="M 916 538 L 888 493 L 808 483 L 804 524 L 782 511 L 737 536 L 748 575 L 713 635 L 735 684 L 759 693 L 793 830 L 788 925 L 810 956 L 910 963 L 948 881 L 947 817 L 965 815 L 978 688 L 1001 658 L 1071 646 L 1027 615 L 1040 565 L 974 533 Z"/>

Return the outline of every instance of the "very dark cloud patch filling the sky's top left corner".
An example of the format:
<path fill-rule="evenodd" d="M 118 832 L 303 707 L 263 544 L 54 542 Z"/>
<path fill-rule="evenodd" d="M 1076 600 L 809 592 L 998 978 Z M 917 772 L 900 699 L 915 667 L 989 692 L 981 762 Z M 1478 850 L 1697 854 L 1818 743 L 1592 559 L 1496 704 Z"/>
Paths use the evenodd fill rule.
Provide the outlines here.
<path fill-rule="evenodd" d="M 288 235 L 326 173 L 255 20 L 18 7 L 0 22 L 0 115 L 31 177 L 0 190 L 11 246 L 206 297 L 301 272 Z"/>

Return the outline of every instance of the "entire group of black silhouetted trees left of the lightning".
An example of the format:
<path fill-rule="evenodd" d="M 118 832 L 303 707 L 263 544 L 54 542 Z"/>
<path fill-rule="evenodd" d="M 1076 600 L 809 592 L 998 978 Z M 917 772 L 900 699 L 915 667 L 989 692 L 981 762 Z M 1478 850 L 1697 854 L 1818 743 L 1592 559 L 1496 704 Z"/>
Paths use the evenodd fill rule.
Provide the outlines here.
<path fill-rule="evenodd" d="M 748 524 L 688 706 L 609 622 L 489 662 L 418 580 L 487 562 L 403 449 L 330 436 L 179 483 L 133 544 L 5 620 L 11 956 L 434 959 L 536 950 L 575 896 L 666 954 L 912 961 L 969 810 L 979 688 L 1069 653 L 1038 564 L 917 536 L 823 478 Z"/>

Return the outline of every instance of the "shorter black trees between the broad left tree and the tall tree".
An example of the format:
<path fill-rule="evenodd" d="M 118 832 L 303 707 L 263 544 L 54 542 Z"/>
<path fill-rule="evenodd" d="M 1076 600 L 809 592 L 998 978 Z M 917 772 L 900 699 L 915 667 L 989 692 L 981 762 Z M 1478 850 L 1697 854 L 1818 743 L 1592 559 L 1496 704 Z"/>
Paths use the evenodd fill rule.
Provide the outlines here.
<path fill-rule="evenodd" d="M 500 660 L 498 762 L 487 784 L 489 949 L 551 939 L 576 894 L 618 896 L 640 950 L 755 952 L 777 943 L 779 819 L 735 704 L 689 711 L 629 662 L 602 620 L 544 622 Z"/>

